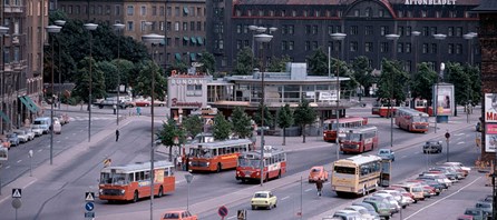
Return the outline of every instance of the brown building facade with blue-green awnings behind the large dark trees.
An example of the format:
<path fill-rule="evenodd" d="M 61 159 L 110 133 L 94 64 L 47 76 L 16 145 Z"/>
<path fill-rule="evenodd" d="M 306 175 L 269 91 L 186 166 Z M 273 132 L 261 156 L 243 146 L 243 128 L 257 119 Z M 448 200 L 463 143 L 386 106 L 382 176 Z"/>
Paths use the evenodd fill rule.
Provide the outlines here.
<path fill-rule="evenodd" d="M 177 61 L 189 66 L 205 50 L 205 0 L 59 0 L 57 6 L 70 19 L 107 26 L 123 23 L 124 34 L 137 41 L 144 34 L 165 36 L 155 58 L 162 67 Z"/>

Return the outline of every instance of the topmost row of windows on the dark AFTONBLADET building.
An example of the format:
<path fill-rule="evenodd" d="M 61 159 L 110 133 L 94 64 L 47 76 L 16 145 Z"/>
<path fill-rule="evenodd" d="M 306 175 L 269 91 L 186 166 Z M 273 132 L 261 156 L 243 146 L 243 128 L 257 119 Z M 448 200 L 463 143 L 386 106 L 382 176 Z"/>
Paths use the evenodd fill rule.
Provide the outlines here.
<path fill-rule="evenodd" d="M 329 9 L 302 9 L 302 10 L 273 10 L 263 9 L 263 7 L 257 9 L 236 9 L 236 17 L 314 17 L 314 18 L 332 18 L 332 17 L 343 17 L 343 11 L 329 10 Z M 378 9 L 373 11 L 371 8 L 367 8 L 364 11 L 355 9 L 352 11 L 350 17 L 355 18 L 390 18 L 390 12 L 386 9 Z M 397 10 L 397 17 L 399 18 L 476 18 L 476 14 L 469 11 L 457 11 L 457 10 Z"/>

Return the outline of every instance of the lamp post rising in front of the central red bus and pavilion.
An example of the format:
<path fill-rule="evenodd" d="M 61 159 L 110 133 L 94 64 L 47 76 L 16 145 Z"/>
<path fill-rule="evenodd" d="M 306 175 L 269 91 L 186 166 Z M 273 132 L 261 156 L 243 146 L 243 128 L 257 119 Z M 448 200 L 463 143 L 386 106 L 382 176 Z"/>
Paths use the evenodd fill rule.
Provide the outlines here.
<path fill-rule="evenodd" d="M 264 71 L 265 71 L 265 58 L 264 58 L 264 43 L 271 42 L 273 36 L 266 33 L 260 33 L 254 36 L 255 41 L 262 43 L 261 57 L 262 57 L 262 66 L 261 66 L 261 87 L 262 87 L 262 98 L 261 98 L 261 187 L 264 182 Z"/>

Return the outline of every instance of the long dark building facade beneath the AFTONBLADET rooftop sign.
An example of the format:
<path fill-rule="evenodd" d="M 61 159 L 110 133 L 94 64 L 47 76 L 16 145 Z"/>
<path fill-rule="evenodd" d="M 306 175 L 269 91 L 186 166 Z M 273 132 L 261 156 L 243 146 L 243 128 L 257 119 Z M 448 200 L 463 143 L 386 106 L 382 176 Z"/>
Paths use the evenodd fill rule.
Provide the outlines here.
<path fill-rule="evenodd" d="M 208 1 L 206 47 L 217 70 L 230 71 L 243 47 L 255 48 L 259 56 L 255 32 L 248 28 L 257 26 L 277 28 L 271 33 L 266 61 L 290 56 L 293 62 L 305 62 L 318 48 L 330 47 L 343 48 L 347 62 L 366 56 L 373 69 L 381 69 L 382 58 L 392 57 L 408 72 L 420 62 L 432 63 L 436 70 L 440 62 L 478 64 L 477 39 L 464 38 L 478 32 L 478 14 L 470 12 L 478 4 L 479 0 Z M 343 43 L 332 41 L 330 34 L 337 32 L 347 34 Z M 390 33 L 400 36 L 396 46 L 386 37 Z M 437 42 L 437 33 L 446 34 L 446 40 Z"/>

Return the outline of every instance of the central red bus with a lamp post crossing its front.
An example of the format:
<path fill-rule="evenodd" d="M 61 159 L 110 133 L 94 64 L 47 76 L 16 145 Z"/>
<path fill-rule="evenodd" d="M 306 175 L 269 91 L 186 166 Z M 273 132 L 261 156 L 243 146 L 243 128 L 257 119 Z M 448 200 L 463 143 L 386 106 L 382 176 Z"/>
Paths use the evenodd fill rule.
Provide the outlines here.
<path fill-rule="evenodd" d="M 264 181 L 281 178 L 286 172 L 286 153 L 284 150 L 264 146 Z M 261 180 L 261 152 L 253 150 L 240 154 L 236 167 L 236 180 Z"/>

